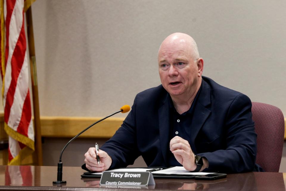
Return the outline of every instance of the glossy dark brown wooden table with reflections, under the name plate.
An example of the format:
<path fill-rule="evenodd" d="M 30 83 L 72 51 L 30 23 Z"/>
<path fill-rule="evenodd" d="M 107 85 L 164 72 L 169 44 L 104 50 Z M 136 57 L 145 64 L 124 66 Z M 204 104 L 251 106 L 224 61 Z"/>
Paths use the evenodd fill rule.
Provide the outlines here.
<path fill-rule="evenodd" d="M 81 178 L 83 172 L 80 167 L 63 167 L 66 185 L 53 185 L 57 167 L 0 166 L 0 190 L 285 190 L 284 173 L 278 172 L 229 174 L 214 181 L 155 179 L 156 185 L 149 187 L 100 186 L 99 178 Z"/>

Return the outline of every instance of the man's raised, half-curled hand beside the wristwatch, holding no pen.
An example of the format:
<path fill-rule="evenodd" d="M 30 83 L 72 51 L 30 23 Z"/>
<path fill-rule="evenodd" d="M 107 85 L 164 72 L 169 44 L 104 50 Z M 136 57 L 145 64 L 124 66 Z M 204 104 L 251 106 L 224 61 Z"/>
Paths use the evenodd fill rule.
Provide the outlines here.
<path fill-rule="evenodd" d="M 196 169 L 195 154 L 188 141 L 179 136 L 175 136 L 170 141 L 170 151 L 186 170 L 194 171 Z"/>

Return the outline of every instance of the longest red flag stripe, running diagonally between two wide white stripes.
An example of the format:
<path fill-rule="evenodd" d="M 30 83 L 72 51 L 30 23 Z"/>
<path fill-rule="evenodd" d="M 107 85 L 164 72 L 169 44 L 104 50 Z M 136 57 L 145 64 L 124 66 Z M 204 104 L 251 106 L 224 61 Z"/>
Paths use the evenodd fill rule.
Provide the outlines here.
<path fill-rule="evenodd" d="M 18 76 L 24 62 L 25 52 L 26 52 L 26 36 L 25 36 L 24 22 L 23 22 L 21 32 L 11 59 L 11 83 L 7 92 L 6 104 L 4 110 L 4 121 L 7 124 L 10 116 L 10 108 L 14 100 L 14 93 L 16 90 Z"/>

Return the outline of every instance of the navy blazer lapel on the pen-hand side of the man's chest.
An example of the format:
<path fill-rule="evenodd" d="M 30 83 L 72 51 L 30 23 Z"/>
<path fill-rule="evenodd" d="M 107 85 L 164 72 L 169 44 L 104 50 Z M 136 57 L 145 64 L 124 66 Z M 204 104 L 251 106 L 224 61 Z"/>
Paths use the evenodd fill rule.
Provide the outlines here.
<path fill-rule="evenodd" d="M 169 114 L 169 104 L 168 104 L 168 96 L 166 96 L 165 101 L 163 102 L 163 105 L 158 110 L 158 120 L 159 120 L 159 134 L 160 134 L 160 146 L 162 155 L 165 161 L 165 164 L 167 163 L 167 152 L 170 149 L 169 146 L 169 132 L 170 132 L 170 114 Z"/>

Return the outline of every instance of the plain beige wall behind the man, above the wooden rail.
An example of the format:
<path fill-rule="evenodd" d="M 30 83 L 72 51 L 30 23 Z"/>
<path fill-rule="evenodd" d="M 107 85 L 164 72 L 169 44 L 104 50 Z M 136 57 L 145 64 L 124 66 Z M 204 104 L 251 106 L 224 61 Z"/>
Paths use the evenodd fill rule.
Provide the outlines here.
<path fill-rule="evenodd" d="M 104 116 L 160 84 L 157 51 L 188 33 L 203 74 L 286 113 L 286 1 L 37 0 L 41 115 Z M 124 114 L 117 115 L 124 117 Z"/>

